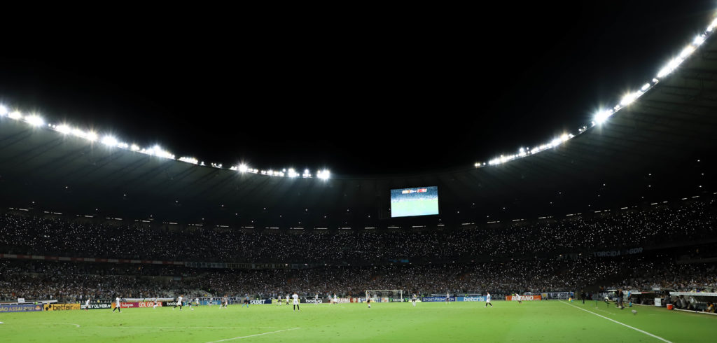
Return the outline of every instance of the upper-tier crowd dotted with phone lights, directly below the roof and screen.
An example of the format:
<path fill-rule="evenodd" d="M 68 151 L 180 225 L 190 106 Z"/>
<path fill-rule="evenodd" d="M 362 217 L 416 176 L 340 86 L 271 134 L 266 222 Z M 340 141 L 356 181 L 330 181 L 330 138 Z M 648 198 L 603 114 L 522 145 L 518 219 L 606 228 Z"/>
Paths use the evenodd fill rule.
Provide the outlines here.
<path fill-rule="evenodd" d="M 312 231 L 80 223 L 0 214 L 0 252 L 174 261 L 385 262 L 586 252 L 714 238 L 712 201 L 431 231 Z"/>

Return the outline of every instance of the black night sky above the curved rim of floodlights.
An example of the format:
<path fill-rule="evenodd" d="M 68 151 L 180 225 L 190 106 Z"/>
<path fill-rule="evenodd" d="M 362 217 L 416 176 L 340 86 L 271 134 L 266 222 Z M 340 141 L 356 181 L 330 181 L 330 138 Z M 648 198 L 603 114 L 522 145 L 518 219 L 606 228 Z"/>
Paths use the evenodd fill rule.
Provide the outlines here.
<path fill-rule="evenodd" d="M 111 30 L 73 22 L 6 42 L 0 102 L 207 164 L 341 175 L 470 168 L 576 132 L 652 79 L 715 5 L 215 11 Z"/>

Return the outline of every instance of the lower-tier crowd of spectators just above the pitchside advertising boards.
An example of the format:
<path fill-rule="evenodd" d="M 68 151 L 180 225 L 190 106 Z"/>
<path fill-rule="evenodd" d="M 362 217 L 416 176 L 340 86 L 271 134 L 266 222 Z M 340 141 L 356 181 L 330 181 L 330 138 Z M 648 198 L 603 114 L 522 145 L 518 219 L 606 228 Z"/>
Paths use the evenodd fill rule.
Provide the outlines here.
<path fill-rule="evenodd" d="M 575 261 L 513 261 L 475 264 L 388 264 L 308 269 L 199 269 L 108 263 L 0 259 L 0 301 L 114 296 L 153 298 L 195 296 L 362 296 L 368 289 L 402 289 L 406 294 L 504 294 L 576 291 L 609 279 L 605 286 L 644 290 L 714 291 L 715 264 L 678 266 L 672 259 L 622 256 Z M 624 279 L 629 275 L 629 279 Z M 604 289 L 605 289 L 604 287 Z"/>

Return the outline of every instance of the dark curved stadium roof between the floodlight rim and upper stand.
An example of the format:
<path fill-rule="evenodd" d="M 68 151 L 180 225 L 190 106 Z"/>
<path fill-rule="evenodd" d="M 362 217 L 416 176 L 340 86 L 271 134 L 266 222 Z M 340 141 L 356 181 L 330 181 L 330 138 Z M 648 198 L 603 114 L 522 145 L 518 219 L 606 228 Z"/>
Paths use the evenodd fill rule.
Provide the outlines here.
<path fill-rule="evenodd" d="M 0 206 L 182 223 L 209 218 L 226 225 L 336 228 L 563 216 L 711 194 L 709 174 L 700 174 L 713 170 L 717 145 L 716 58 L 712 35 L 602 124 L 526 158 L 438 173 L 272 178 L 111 148 L 4 116 Z M 438 186 L 440 216 L 380 221 L 390 218 L 390 189 L 428 185 Z"/>

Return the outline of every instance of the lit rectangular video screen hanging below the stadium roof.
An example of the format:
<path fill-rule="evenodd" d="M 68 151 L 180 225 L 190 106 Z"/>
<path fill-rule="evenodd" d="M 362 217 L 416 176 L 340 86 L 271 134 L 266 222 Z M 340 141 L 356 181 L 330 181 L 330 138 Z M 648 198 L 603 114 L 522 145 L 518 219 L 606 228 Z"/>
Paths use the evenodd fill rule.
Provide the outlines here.
<path fill-rule="evenodd" d="M 438 187 L 391 190 L 391 218 L 438 214 Z"/>

